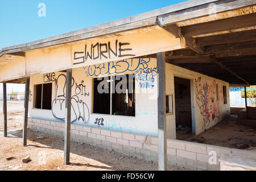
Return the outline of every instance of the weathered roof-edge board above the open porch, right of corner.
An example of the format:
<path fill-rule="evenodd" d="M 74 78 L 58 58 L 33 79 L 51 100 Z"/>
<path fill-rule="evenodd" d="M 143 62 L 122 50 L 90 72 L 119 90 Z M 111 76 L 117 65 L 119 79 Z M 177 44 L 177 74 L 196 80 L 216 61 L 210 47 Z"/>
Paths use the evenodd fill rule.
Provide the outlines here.
<path fill-rule="evenodd" d="M 162 16 L 162 26 L 168 24 L 173 24 L 177 22 L 182 22 L 184 20 L 200 18 L 203 16 L 211 15 L 210 13 L 222 13 L 224 11 L 230 11 L 235 9 L 240 9 L 242 7 L 247 7 L 255 5 L 255 0 L 222 0 L 214 2 L 215 6 L 210 6 L 209 3 L 192 7 L 189 9 L 184 9 L 181 11 L 176 11 L 173 13 L 168 13 Z"/>

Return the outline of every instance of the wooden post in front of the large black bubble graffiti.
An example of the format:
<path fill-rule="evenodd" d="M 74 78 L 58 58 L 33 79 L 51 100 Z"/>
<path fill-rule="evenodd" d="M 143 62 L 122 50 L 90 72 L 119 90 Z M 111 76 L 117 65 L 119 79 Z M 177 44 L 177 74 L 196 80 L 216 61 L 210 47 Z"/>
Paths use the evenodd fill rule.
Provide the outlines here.
<path fill-rule="evenodd" d="M 65 143 L 64 143 L 64 164 L 69 164 L 70 156 L 70 135 L 71 135 L 71 86 L 72 69 L 67 69 L 66 77 L 66 106 L 65 106 Z"/>

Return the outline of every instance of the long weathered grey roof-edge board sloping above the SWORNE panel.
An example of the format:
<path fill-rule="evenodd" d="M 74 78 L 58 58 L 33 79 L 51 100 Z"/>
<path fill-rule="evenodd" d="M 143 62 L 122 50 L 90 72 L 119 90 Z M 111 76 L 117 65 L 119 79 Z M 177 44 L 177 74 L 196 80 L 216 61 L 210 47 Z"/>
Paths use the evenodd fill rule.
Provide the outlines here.
<path fill-rule="evenodd" d="M 180 11 L 180 10 L 183 10 L 183 9 L 188 9 L 188 8 L 192 8 L 192 7 L 195 7 L 195 6 L 204 5 L 205 3 L 212 3 L 212 2 L 216 2 L 216 1 L 217 0 L 191 0 L 191 1 L 181 2 L 181 3 L 178 3 L 176 5 L 163 7 L 163 8 L 158 9 L 158 10 L 149 11 L 147 13 L 131 16 L 131 17 L 128 17 L 128 18 L 118 19 L 118 20 L 114 20 L 112 22 L 102 23 L 102 24 L 98 24 L 96 26 L 82 28 L 81 30 L 67 32 L 65 34 L 52 36 L 52 37 L 49 37 L 49 38 L 46 38 L 46 39 L 41 39 L 41 40 L 37 40 L 37 41 L 34 41 L 34 42 L 30 42 L 30 43 L 25 43 L 25 44 L 19 44 L 19 45 L 16 45 L 16 46 L 6 47 L 6 48 L 3 48 L 3 49 L 0 50 L 0 56 L 2 55 L 3 51 L 7 51 L 7 50 L 11 50 L 11 49 L 17 49 L 17 48 L 25 48 L 27 46 L 35 46 L 37 44 L 43 44 L 43 43 L 47 43 L 47 42 L 56 41 L 56 40 L 59 40 L 59 39 L 70 38 L 72 36 L 87 34 L 87 33 L 94 32 L 94 31 L 104 31 L 105 29 L 109 29 L 109 28 L 114 28 L 114 27 L 118 28 L 118 26 L 122 27 L 125 24 L 128 24 L 128 26 L 132 26 L 133 23 L 143 22 L 145 20 L 147 21 L 148 19 L 156 19 L 156 16 L 158 16 L 158 15 L 167 14 L 167 13 L 171 13 L 171 12 L 175 12 L 175 11 Z M 130 29 L 127 28 L 126 31 L 128 31 L 128 30 L 130 30 Z M 114 33 L 117 33 L 117 32 L 114 32 Z"/>

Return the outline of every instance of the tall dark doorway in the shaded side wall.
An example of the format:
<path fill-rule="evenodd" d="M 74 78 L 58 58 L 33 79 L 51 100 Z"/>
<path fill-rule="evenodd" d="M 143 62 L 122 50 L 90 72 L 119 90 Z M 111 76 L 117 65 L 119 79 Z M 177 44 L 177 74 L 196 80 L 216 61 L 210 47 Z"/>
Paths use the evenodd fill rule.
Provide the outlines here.
<path fill-rule="evenodd" d="M 193 136 L 191 80 L 174 77 L 176 139 L 187 140 Z"/>

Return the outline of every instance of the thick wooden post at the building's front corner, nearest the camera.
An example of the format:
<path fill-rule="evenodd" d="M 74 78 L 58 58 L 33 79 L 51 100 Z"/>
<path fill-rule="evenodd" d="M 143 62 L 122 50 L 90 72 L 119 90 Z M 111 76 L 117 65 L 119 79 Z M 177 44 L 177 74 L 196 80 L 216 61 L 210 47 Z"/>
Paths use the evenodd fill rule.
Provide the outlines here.
<path fill-rule="evenodd" d="M 158 170 L 167 170 L 166 55 L 157 53 L 158 69 Z"/>

